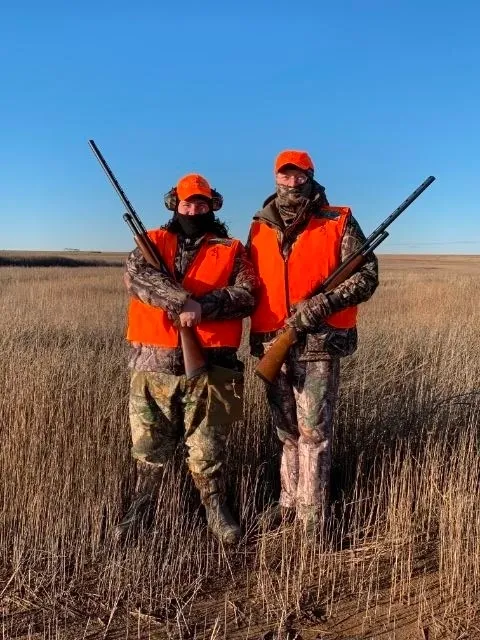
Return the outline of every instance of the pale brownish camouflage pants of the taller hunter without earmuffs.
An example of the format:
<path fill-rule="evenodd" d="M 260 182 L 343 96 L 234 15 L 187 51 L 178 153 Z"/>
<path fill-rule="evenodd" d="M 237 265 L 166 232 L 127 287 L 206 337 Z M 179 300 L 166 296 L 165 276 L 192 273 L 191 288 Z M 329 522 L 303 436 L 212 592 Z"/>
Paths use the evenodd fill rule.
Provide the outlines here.
<path fill-rule="evenodd" d="M 320 509 L 328 492 L 340 359 L 301 362 L 298 355 L 293 347 L 267 396 L 283 443 L 280 504 L 301 516 L 302 508 Z"/>

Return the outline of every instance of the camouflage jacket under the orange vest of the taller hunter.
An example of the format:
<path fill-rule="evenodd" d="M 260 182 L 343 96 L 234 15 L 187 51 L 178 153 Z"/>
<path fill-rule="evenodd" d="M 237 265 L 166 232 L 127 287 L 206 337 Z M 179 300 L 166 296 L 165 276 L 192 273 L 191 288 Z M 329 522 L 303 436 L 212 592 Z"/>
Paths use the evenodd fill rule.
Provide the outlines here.
<path fill-rule="evenodd" d="M 285 225 L 278 211 L 275 199 L 266 200 L 264 208 L 254 216 L 277 232 L 279 246 L 284 257 L 291 251 L 299 233 L 303 231 L 310 219 L 312 208 L 319 207 L 321 195 L 312 200 L 310 208 L 300 213 L 295 220 Z M 347 222 L 341 246 L 341 260 L 345 260 L 365 241 L 360 225 L 353 216 Z M 247 242 L 249 250 L 250 238 Z M 378 286 L 378 261 L 372 257 L 350 278 L 324 295 L 313 296 L 297 307 L 296 312 L 287 320 L 287 324 L 299 331 L 299 360 L 329 360 L 332 357 L 351 355 L 357 348 L 357 329 L 334 329 L 324 319 L 335 311 L 365 302 Z M 280 330 L 281 331 L 281 330 Z M 270 333 L 252 333 L 250 350 L 255 356 L 262 356 L 265 347 L 279 331 Z"/>

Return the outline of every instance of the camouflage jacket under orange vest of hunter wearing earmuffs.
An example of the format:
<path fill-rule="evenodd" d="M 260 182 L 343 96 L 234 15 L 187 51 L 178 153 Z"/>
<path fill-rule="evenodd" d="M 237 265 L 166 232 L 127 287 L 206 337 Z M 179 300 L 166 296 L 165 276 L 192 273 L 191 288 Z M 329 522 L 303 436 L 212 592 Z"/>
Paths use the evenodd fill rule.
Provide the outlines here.
<path fill-rule="evenodd" d="M 127 258 L 124 276 L 129 294 L 142 302 L 164 309 L 170 318 L 175 319 L 190 296 L 180 283 L 203 241 L 204 236 L 189 239 L 178 234 L 175 278 L 151 267 L 139 249 L 134 249 Z M 215 238 L 214 241 L 224 244 L 231 242 L 227 238 Z M 222 320 L 249 316 L 255 305 L 253 293 L 257 285 L 258 279 L 253 266 L 245 248 L 240 245 L 229 285 L 196 298 L 202 306 L 202 318 Z M 240 369 L 242 366 L 233 348 L 215 347 L 205 351 L 211 364 L 233 369 Z M 131 343 L 129 366 L 137 371 L 156 371 L 174 375 L 185 373 L 180 347 L 170 349 Z"/>

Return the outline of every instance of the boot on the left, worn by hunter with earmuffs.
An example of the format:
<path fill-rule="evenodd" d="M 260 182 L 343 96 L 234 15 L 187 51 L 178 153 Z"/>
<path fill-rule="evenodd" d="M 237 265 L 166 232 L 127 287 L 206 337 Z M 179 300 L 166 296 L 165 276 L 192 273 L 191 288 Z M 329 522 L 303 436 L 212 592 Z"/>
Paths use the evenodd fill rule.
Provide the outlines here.
<path fill-rule="evenodd" d="M 113 529 L 116 542 L 135 538 L 151 526 L 162 473 L 163 467 L 137 460 L 135 493 L 127 512 Z"/>

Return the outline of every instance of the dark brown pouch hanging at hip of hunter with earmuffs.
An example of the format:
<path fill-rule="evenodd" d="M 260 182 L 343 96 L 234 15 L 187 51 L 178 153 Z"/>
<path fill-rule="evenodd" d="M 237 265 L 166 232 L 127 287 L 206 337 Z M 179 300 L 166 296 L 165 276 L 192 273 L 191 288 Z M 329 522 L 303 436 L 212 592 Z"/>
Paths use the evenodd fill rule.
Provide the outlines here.
<path fill-rule="evenodd" d="M 243 420 L 243 372 L 212 365 L 207 376 L 207 424 L 231 424 Z"/>

